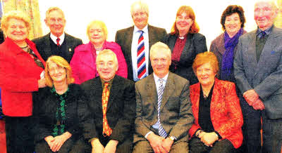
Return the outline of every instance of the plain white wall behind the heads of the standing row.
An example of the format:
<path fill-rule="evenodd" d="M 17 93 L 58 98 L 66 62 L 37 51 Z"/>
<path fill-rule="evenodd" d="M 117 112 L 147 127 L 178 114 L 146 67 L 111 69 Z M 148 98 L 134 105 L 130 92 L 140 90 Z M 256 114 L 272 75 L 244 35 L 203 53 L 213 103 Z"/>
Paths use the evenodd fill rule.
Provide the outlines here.
<path fill-rule="evenodd" d="M 66 32 L 88 43 L 86 27 L 92 20 L 102 20 L 108 28 L 108 41 L 114 41 L 118 29 L 130 27 L 133 21 L 130 15 L 132 0 L 39 0 L 39 11 L 42 20 L 42 33 L 47 34 L 49 28 L 44 24 L 45 12 L 51 6 L 58 6 L 66 16 Z M 200 33 L 207 38 L 207 47 L 223 31 L 220 19 L 224 9 L 231 4 L 240 5 L 245 11 L 245 30 L 250 32 L 256 28 L 254 15 L 255 0 L 147 0 L 149 6 L 149 24 L 163 27 L 166 32 L 176 18 L 180 6 L 191 6 L 195 11 L 196 22 Z"/>

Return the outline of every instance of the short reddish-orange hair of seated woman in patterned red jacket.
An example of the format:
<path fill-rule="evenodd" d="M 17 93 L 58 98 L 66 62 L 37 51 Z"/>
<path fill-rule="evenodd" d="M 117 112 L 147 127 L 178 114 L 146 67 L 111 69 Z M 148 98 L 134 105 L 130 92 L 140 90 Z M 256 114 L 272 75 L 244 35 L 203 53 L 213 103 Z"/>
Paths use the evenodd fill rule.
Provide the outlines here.
<path fill-rule="evenodd" d="M 197 68 L 206 64 L 210 63 L 212 66 L 212 69 L 214 69 L 214 72 L 217 74 L 219 72 L 219 61 L 216 58 L 216 55 L 210 51 L 206 51 L 204 53 L 199 53 L 196 55 L 196 58 L 193 62 L 192 69 L 195 74 L 197 74 Z"/>

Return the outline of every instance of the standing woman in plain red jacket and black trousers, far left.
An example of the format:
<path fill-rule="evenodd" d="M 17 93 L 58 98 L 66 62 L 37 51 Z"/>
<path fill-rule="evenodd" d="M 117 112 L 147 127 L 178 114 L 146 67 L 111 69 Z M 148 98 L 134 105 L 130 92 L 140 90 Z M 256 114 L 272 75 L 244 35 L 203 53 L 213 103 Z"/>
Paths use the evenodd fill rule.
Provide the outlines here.
<path fill-rule="evenodd" d="M 32 92 L 45 87 L 45 62 L 27 39 L 29 19 L 19 11 L 6 13 L 1 29 L 7 36 L 0 45 L 0 87 L 6 115 L 7 152 L 33 152 Z"/>

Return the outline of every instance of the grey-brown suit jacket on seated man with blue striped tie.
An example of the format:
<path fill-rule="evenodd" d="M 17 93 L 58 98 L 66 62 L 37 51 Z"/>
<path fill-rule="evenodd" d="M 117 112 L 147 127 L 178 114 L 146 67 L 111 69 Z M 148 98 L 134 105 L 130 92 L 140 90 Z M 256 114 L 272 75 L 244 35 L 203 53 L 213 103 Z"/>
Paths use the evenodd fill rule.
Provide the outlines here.
<path fill-rule="evenodd" d="M 137 81 L 136 91 L 136 119 L 134 142 L 146 140 L 149 131 L 156 133 L 152 126 L 157 122 L 157 88 L 154 75 Z M 161 125 L 166 133 L 177 138 L 176 142 L 188 141 L 188 130 L 193 124 L 190 102 L 189 81 L 181 76 L 168 73 L 161 101 Z M 157 133 L 156 133 L 157 134 Z"/>

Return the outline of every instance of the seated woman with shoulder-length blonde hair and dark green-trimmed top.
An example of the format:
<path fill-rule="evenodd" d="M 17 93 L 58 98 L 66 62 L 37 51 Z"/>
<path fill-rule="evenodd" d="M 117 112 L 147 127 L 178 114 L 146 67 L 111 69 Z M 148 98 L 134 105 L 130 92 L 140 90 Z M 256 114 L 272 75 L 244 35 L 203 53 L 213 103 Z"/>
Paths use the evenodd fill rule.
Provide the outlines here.
<path fill-rule="evenodd" d="M 80 124 L 92 123 L 85 93 L 60 56 L 48 58 L 45 72 L 47 87 L 34 94 L 35 152 L 84 152 Z"/>

